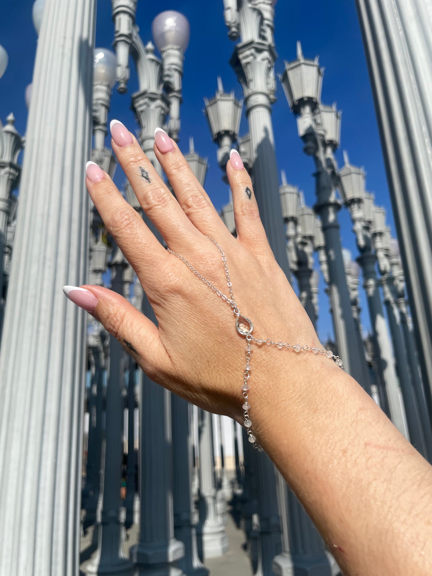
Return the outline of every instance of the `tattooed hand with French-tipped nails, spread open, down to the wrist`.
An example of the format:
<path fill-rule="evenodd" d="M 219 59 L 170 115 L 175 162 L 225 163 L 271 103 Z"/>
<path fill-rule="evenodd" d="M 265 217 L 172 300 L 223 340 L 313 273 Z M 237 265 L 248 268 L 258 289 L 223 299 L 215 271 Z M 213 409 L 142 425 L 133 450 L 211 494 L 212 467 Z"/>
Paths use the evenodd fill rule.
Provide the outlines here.
<path fill-rule="evenodd" d="M 205 235 L 221 246 L 234 299 L 241 313 L 253 321 L 253 335 L 320 346 L 268 245 L 252 182 L 238 153 L 233 153 L 227 165 L 237 230 L 234 238 L 165 132 L 157 131 L 154 153 L 176 198 L 123 124 L 112 124 L 112 136 L 112 148 L 147 221 L 170 249 L 183 255 L 204 278 L 229 295 L 221 255 Z M 85 287 L 90 294 L 82 290 L 78 293 L 79 298 L 89 298 L 84 307 L 118 338 L 151 380 L 206 410 L 240 421 L 246 340 L 236 331 L 232 308 L 162 246 L 106 173 L 90 164 L 87 174 L 86 185 L 96 209 L 137 273 L 158 325 L 121 295 L 97 286 Z M 74 293 L 77 291 L 70 291 L 69 296 Z M 266 344 L 262 346 L 267 348 Z M 262 353 L 254 346 L 251 414 L 256 410 L 254 401 L 259 389 L 271 391 L 282 376 L 286 378 L 288 367 L 295 366 L 298 376 L 299 366 L 310 361 L 318 366 L 317 359 L 310 353 L 270 351 L 270 347 Z M 333 364 L 327 358 L 321 361 Z"/>

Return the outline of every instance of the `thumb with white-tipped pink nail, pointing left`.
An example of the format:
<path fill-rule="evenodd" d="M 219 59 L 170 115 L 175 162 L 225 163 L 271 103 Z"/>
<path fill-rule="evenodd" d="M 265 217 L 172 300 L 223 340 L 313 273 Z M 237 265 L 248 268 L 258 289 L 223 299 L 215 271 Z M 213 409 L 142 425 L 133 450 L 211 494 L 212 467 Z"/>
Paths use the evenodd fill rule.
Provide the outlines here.
<path fill-rule="evenodd" d="M 170 360 L 158 328 L 122 295 L 100 286 L 65 286 L 71 302 L 90 312 L 152 378 Z"/>

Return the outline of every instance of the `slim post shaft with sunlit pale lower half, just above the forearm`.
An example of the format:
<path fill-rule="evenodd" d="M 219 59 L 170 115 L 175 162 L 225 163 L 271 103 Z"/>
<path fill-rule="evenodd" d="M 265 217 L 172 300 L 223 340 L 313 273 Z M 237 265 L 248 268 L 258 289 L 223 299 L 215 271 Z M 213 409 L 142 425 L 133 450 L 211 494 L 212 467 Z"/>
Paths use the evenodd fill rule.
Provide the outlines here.
<path fill-rule="evenodd" d="M 389 404 L 390 417 L 393 424 L 399 429 L 401 434 L 408 436 L 405 422 L 403 406 L 401 404 L 399 382 L 396 376 L 395 360 L 392 354 L 392 346 L 387 330 L 387 325 L 382 309 L 381 296 L 377 283 L 377 273 L 375 263 L 377 257 L 371 252 L 358 257 L 358 263 L 362 267 L 364 288 L 369 308 L 370 323 L 374 338 L 377 340 L 376 365 L 378 377 L 381 376 L 385 384 L 386 396 Z"/>

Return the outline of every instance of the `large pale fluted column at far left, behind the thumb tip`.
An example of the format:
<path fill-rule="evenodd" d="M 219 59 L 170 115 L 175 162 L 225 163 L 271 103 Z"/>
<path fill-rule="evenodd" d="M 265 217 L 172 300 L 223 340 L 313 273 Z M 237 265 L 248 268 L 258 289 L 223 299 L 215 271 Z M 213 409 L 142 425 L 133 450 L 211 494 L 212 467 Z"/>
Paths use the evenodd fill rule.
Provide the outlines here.
<path fill-rule="evenodd" d="M 47 0 L 0 355 L 0 574 L 78 574 L 94 0 Z"/>

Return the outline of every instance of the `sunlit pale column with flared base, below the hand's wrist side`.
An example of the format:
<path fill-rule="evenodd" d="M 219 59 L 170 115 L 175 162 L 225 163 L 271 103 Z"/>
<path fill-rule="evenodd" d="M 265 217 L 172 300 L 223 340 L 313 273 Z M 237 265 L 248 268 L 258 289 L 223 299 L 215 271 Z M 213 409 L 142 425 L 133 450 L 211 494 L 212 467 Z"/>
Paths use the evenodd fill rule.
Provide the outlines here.
<path fill-rule="evenodd" d="M 228 538 L 216 510 L 214 485 L 213 426 L 211 414 L 200 410 L 199 426 L 199 535 L 203 558 L 215 558 L 228 551 Z"/>

